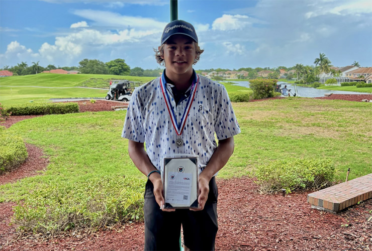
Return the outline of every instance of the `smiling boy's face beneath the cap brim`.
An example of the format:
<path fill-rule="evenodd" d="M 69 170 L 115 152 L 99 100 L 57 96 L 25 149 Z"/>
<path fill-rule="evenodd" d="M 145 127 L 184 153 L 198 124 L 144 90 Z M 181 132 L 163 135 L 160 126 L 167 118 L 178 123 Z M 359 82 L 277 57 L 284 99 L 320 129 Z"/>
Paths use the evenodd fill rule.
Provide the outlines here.
<path fill-rule="evenodd" d="M 176 34 L 168 38 L 164 44 L 164 59 L 167 77 L 182 74 L 192 74 L 196 59 L 196 48 L 192 38 Z"/>

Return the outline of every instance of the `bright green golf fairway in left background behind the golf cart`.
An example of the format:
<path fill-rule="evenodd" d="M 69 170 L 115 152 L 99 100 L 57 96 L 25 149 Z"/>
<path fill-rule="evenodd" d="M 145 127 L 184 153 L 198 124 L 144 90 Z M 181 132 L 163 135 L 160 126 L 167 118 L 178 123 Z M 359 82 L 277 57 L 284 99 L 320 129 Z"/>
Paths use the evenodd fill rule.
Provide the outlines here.
<path fill-rule="evenodd" d="M 145 83 L 153 79 L 153 77 L 53 73 L 4 77 L 0 78 L 0 103 L 3 105 L 10 105 L 27 103 L 30 101 L 46 102 L 49 98 L 68 97 L 104 98 L 107 94 L 110 80 L 112 79 L 128 79 L 129 81 Z M 101 87 L 107 88 L 107 90 L 71 87 Z"/>

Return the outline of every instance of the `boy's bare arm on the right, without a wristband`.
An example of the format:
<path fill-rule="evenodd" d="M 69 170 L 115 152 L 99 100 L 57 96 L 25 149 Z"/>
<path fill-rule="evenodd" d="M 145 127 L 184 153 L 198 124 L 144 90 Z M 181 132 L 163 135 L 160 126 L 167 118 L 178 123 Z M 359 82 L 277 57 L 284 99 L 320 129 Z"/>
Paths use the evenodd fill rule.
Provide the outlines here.
<path fill-rule="evenodd" d="M 204 205 L 206 204 L 206 201 L 208 199 L 209 181 L 218 171 L 220 171 L 226 165 L 233 152 L 234 137 L 218 141 L 216 151 L 213 153 L 207 166 L 199 175 L 199 208 L 190 210 L 199 211 L 204 209 Z"/>

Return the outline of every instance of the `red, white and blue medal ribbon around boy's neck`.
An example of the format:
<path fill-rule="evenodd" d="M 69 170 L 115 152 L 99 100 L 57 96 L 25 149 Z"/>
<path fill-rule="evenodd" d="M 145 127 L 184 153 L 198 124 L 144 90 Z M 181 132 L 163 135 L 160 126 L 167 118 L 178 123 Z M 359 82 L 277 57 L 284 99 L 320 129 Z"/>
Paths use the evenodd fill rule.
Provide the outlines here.
<path fill-rule="evenodd" d="M 177 119 L 175 117 L 175 113 L 174 113 L 174 110 L 171 106 L 171 103 L 170 103 L 170 97 L 168 95 L 168 92 L 167 92 L 167 89 L 165 87 L 166 83 L 163 83 L 162 82 L 162 76 L 160 77 L 160 86 L 161 86 L 161 91 L 163 93 L 163 97 L 164 97 L 164 100 L 165 100 L 165 104 L 166 104 L 166 107 L 168 109 L 168 113 L 169 113 L 169 116 L 170 116 L 170 120 L 172 121 L 172 124 L 173 124 L 173 128 L 177 134 L 177 136 L 180 136 L 182 134 L 182 131 L 183 131 L 183 128 L 184 128 L 184 125 L 186 123 L 186 118 L 188 117 L 189 113 L 190 113 L 190 109 L 191 109 L 191 105 L 193 104 L 194 102 L 194 97 L 195 97 L 195 93 L 196 93 L 196 90 L 197 90 L 197 86 L 198 86 L 198 82 L 199 82 L 199 76 L 197 78 L 197 81 L 194 82 L 193 81 L 193 84 L 192 84 L 192 93 L 190 94 L 189 96 L 189 100 L 188 100 L 188 103 L 186 105 L 186 107 L 184 108 L 184 111 L 183 111 L 183 114 L 182 114 L 182 119 L 181 119 L 181 122 L 178 124 L 177 123 Z"/>

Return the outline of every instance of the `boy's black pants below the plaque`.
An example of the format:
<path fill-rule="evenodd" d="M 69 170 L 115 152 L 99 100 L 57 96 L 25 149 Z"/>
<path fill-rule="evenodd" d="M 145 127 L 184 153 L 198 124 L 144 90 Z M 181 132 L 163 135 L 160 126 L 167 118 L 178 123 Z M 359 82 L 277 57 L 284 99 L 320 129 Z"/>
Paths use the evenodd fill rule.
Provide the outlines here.
<path fill-rule="evenodd" d="M 181 224 L 185 246 L 191 250 L 214 250 L 218 230 L 217 184 L 209 182 L 209 194 L 202 211 L 176 209 L 163 212 L 156 203 L 151 181 L 145 191 L 145 250 L 179 250 Z"/>

